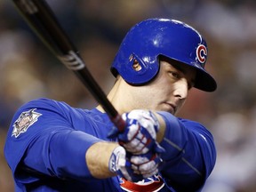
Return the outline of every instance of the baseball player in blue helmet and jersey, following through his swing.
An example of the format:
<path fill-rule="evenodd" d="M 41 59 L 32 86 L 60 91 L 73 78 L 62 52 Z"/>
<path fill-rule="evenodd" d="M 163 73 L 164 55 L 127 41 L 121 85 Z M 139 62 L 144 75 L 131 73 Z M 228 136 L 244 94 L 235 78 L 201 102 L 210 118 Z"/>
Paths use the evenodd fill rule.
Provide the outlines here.
<path fill-rule="evenodd" d="M 133 26 L 108 93 L 124 132 L 101 106 L 29 101 L 13 116 L 4 146 L 16 191 L 200 191 L 215 164 L 212 134 L 175 115 L 193 87 L 216 89 L 206 58 L 203 36 L 179 20 Z"/>

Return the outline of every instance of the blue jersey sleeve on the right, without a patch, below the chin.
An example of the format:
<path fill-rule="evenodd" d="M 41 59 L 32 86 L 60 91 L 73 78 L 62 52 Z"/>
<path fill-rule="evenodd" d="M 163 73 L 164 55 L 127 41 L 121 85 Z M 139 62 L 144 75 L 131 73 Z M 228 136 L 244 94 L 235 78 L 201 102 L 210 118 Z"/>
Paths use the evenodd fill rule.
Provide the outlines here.
<path fill-rule="evenodd" d="M 167 112 L 166 131 L 160 145 L 165 148 L 161 174 L 177 191 L 200 191 L 216 161 L 216 148 L 204 125 L 180 119 Z"/>

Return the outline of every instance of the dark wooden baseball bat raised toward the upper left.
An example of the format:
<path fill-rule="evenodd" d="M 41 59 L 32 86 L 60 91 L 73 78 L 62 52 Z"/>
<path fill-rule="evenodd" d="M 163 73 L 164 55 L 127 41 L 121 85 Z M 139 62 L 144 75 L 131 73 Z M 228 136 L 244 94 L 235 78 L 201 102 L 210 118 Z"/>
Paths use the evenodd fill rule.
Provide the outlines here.
<path fill-rule="evenodd" d="M 63 28 L 61 28 L 49 4 L 44 0 L 13 0 L 13 2 L 30 28 L 60 62 L 76 74 L 89 92 L 92 93 L 94 99 L 104 108 L 118 131 L 123 132 L 125 127 L 123 118 L 118 114 L 116 108 L 108 100 L 100 85 L 97 84 L 88 68 L 86 68 L 84 60 L 79 52 L 76 51 L 75 45 Z"/>

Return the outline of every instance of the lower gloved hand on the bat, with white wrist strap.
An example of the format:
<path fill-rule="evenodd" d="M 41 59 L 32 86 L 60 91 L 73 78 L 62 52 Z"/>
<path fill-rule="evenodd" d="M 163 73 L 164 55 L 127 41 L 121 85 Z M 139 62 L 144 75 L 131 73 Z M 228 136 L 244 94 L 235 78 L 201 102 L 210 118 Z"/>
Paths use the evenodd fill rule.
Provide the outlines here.
<path fill-rule="evenodd" d="M 125 180 L 138 182 L 158 173 L 161 163 L 162 159 L 152 152 L 133 156 L 120 146 L 112 152 L 108 167 L 110 172 L 115 172 Z"/>

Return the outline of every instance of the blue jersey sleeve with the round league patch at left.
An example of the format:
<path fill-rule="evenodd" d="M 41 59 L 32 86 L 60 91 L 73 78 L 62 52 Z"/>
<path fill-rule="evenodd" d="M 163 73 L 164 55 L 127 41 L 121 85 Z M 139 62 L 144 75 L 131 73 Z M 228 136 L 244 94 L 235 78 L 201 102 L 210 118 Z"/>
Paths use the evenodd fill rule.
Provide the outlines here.
<path fill-rule="evenodd" d="M 34 100 L 14 115 L 4 156 L 15 180 L 36 180 L 30 172 L 63 180 L 92 178 L 85 163 L 85 153 L 100 139 L 74 129 L 67 110 L 52 100 Z M 90 124 L 87 126 L 90 129 Z"/>

